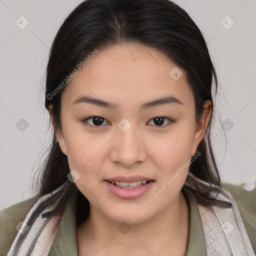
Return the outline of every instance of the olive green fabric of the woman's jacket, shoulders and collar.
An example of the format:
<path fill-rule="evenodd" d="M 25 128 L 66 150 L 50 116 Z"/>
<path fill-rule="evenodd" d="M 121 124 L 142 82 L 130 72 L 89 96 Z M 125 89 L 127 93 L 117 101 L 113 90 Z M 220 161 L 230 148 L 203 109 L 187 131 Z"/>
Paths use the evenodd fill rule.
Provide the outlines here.
<path fill-rule="evenodd" d="M 251 191 L 247 191 L 242 188 L 242 185 L 243 183 L 240 185 L 223 183 L 222 187 L 233 196 L 254 254 L 256 255 L 256 187 Z M 186 256 L 206 256 L 207 253 L 202 222 L 196 200 L 192 196 L 186 196 L 186 198 L 188 199 L 190 213 Z M 15 227 L 21 220 L 25 219 L 26 214 L 32 207 L 32 205 L 29 205 L 29 201 L 30 198 L 0 211 L 0 256 L 7 255 L 14 238 L 18 233 Z M 75 209 L 74 202 L 69 201 L 48 255 L 77 256 Z"/>

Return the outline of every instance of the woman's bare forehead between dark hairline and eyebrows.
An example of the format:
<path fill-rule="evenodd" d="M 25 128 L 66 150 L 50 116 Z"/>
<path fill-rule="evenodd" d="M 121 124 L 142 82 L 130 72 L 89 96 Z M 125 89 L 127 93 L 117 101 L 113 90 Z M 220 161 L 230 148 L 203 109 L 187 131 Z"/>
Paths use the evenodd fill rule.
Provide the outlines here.
<path fill-rule="evenodd" d="M 182 75 L 174 79 L 172 70 Z M 139 43 L 114 45 L 91 57 L 69 82 L 62 97 L 72 104 L 83 94 L 120 105 L 165 94 L 173 94 L 184 103 L 193 101 L 185 71 L 160 50 Z"/>

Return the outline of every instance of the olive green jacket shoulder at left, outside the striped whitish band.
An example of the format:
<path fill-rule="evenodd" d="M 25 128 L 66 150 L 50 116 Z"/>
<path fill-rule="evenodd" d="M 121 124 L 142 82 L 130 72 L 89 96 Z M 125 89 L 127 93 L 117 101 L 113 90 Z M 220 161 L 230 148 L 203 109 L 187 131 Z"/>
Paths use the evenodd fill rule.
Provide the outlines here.
<path fill-rule="evenodd" d="M 13 243 L 20 221 L 35 203 L 35 196 L 0 210 L 0 256 L 6 255 Z"/>

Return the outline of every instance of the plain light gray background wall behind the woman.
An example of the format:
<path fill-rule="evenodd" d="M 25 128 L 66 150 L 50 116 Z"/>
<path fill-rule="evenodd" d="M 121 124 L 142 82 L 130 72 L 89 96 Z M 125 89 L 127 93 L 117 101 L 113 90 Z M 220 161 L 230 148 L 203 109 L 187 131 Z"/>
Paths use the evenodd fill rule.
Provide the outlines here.
<path fill-rule="evenodd" d="M 32 175 L 50 137 L 41 90 L 48 52 L 58 27 L 80 2 L 0 0 L 0 210 L 32 196 Z M 255 181 L 256 1 L 175 2 L 203 32 L 216 67 L 219 116 L 214 122 L 212 144 L 222 181 Z M 22 15 L 29 21 L 24 29 L 15 23 Z M 231 19 L 225 18 L 227 15 Z M 232 20 L 234 24 L 227 29 Z M 27 127 L 20 126 L 24 124 L 21 118 Z"/>

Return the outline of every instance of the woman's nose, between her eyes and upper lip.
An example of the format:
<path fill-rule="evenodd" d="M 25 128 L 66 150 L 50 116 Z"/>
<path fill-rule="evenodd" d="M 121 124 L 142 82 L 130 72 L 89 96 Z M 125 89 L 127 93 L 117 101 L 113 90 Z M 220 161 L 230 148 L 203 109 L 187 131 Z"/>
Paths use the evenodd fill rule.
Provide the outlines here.
<path fill-rule="evenodd" d="M 145 161 L 146 150 L 147 146 L 143 142 L 143 136 L 135 125 L 131 125 L 126 131 L 118 128 L 111 144 L 110 159 L 115 164 L 129 168 Z"/>

